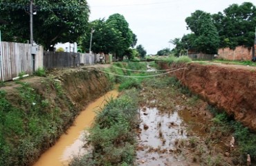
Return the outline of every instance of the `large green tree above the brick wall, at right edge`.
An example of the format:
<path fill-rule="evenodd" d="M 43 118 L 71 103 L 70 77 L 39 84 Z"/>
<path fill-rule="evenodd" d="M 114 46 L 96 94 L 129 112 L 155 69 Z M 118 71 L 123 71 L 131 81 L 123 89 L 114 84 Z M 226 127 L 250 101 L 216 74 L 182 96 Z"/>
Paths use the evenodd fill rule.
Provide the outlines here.
<path fill-rule="evenodd" d="M 253 3 L 232 4 L 212 15 L 221 39 L 220 47 L 252 47 L 255 38 L 256 8 Z"/>

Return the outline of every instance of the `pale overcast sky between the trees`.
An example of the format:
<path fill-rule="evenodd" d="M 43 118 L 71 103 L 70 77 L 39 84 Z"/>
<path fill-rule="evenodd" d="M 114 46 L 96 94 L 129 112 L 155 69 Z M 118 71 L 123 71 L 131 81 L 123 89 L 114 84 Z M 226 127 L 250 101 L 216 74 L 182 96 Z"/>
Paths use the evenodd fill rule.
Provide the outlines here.
<path fill-rule="evenodd" d="M 156 54 L 163 48 L 173 48 L 170 39 L 190 33 L 185 18 L 195 10 L 211 14 L 223 12 L 240 0 L 87 0 L 91 9 L 90 21 L 119 13 L 129 23 L 147 54 Z M 255 0 L 252 2 L 255 5 Z"/>

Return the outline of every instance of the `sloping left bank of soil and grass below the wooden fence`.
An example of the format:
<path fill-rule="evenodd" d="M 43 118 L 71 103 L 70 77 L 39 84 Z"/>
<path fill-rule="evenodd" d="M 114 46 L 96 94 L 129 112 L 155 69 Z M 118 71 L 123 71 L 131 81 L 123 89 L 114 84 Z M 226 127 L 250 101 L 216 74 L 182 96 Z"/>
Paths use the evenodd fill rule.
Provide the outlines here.
<path fill-rule="evenodd" d="M 93 68 L 6 83 L 0 89 L 0 165 L 31 165 L 110 88 L 109 79 Z"/>

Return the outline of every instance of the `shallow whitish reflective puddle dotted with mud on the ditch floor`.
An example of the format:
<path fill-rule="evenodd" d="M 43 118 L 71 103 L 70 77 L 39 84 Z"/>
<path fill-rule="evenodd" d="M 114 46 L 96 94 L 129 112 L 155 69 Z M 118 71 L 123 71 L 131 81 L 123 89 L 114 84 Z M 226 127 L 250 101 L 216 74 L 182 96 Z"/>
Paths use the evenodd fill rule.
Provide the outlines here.
<path fill-rule="evenodd" d="M 175 140 L 185 139 L 183 120 L 174 111 L 161 114 L 156 108 L 140 110 L 140 138 L 137 151 L 138 165 L 186 165 L 183 155 L 175 154 Z M 146 127 L 145 127 L 146 125 Z"/>

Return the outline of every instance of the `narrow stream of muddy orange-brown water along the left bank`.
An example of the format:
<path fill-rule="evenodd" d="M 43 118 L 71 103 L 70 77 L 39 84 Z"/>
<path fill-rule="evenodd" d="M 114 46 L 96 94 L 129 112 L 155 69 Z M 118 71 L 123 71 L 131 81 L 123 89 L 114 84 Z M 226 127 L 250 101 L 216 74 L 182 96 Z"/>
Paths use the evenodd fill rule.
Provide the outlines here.
<path fill-rule="evenodd" d="M 89 104 L 89 106 L 77 116 L 73 126 L 60 137 L 53 147 L 42 154 L 34 166 L 68 165 L 68 161 L 71 160 L 74 155 L 86 153 L 86 149 L 83 148 L 84 129 L 90 127 L 95 117 L 95 111 L 104 107 L 107 100 L 116 98 L 117 96 L 118 91 L 109 91 L 101 98 L 98 98 L 98 100 Z"/>

